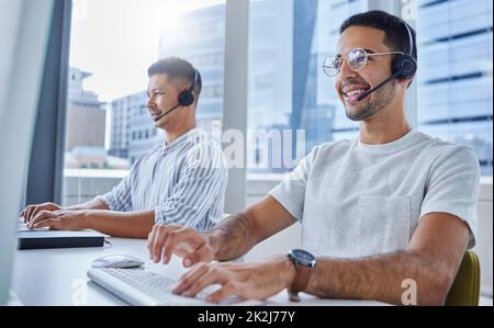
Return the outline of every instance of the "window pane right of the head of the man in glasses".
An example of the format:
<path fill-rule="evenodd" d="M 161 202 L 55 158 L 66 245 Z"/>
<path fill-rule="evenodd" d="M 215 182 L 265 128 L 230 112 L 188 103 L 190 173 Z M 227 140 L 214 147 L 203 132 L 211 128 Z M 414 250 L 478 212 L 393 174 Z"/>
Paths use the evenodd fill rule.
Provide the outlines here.
<path fill-rule="evenodd" d="M 417 1 L 418 128 L 471 146 L 483 176 L 493 172 L 492 5 Z"/>

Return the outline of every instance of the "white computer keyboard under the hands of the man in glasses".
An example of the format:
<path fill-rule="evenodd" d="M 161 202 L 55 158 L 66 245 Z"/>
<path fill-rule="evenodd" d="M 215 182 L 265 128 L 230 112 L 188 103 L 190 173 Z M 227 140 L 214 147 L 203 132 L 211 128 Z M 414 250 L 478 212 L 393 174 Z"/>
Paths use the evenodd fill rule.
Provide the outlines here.
<path fill-rule="evenodd" d="M 94 283 L 132 305 L 216 305 L 205 301 L 204 292 L 199 293 L 194 298 L 172 294 L 173 280 L 143 268 L 91 268 L 88 276 Z M 220 304 L 229 305 L 239 301 L 234 297 Z"/>

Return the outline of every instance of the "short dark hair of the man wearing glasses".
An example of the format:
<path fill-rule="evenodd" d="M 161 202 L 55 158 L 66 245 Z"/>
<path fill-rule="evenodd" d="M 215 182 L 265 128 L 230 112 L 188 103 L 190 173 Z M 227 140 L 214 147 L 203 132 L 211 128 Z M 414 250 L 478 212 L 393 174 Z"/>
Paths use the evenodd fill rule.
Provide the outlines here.
<path fill-rule="evenodd" d="M 412 38 L 414 41 L 412 57 L 417 60 L 417 42 L 415 30 L 412 29 L 405 21 L 402 19 L 392 15 L 388 12 L 380 10 L 371 10 L 363 13 L 358 13 L 356 15 L 347 19 L 341 26 L 339 27 L 339 34 L 343 34 L 350 26 L 364 26 L 364 27 L 373 27 L 381 31 L 384 31 L 384 44 L 390 47 L 393 52 L 402 52 L 408 55 L 409 50 L 409 35 L 408 31 L 406 31 L 406 24 L 412 33 Z"/>

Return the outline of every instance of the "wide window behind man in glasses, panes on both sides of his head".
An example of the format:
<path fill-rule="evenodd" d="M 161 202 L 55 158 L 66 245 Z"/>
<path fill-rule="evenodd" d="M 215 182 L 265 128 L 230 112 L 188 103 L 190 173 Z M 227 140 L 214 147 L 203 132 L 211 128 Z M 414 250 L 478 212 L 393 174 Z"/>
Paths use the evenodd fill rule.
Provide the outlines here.
<path fill-rule="evenodd" d="M 394 3 L 395 2 L 395 3 Z M 389 8 L 394 10 L 400 1 Z M 403 2 L 403 1 L 402 1 Z M 405 2 L 403 2 L 405 3 Z M 492 176 L 492 1 L 415 1 L 419 72 L 417 105 L 408 108 L 419 131 L 473 147 L 482 174 Z M 285 172 L 272 158 L 287 147 L 282 131 L 305 133 L 305 152 L 325 142 L 353 138 L 358 123 L 349 121 L 334 79 L 321 69 L 339 38 L 339 25 L 368 10 L 371 1 L 251 1 L 249 36 L 248 128 L 280 132 L 281 147 L 249 135 L 249 172 Z M 384 5 L 384 4 L 383 4 Z M 440 95 L 440 97 L 438 97 Z M 415 123 L 415 122 L 413 122 Z M 293 143 L 292 143 L 293 144 Z M 263 149 L 258 149 L 262 147 Z M 277 154 L 278 152 L 278 154 Z M 266 163 L 268 166 L 258 166 Z"/>

